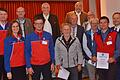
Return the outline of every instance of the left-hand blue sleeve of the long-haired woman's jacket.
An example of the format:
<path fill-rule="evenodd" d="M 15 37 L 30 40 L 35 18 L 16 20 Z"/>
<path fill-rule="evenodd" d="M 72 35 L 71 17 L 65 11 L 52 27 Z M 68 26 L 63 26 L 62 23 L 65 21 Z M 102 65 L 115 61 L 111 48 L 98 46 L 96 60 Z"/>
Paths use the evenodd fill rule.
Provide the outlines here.
<path fill-rule="evenodd" d="M 11 72 L 11 67 L 10 67 L 10 57 L 11 57 L 11 52 L 12 52 L 12 43 L 9 43 L 8 39 L 5 39 L 4 41 L 4 66 L 6 72 Z"/>

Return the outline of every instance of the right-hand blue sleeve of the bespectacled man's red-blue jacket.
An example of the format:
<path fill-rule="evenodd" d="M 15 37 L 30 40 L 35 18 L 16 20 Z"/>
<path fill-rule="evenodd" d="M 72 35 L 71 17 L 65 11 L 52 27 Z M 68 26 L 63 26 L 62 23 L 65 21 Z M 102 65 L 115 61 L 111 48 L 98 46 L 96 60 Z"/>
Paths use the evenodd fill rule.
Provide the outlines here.
<path fill-rule="evenodd" d="M 51 57 L 51 60 L 52 60 L 52 63 L 55 62 L 55 52 L 54 52 L 54 43 L 53 43 L 53 39 L 52 39 L 52 36 L 49 35 L 49 51 L 50 51 L 50 57 Z"/>

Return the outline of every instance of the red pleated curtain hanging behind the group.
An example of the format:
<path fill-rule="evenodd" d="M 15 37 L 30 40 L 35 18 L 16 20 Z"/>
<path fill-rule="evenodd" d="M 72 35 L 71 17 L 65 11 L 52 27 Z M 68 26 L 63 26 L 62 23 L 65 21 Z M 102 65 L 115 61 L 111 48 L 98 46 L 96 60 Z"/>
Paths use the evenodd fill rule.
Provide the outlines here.
<path fill-rule="evenodd" d="M 83 0 L 84 1 L 84 0 Z M 86 2 L 87 1 L 87 2 Z M 0 7 L 8 10 L 8 20 L 16 19 L 16 9 L 20 6 L 25 8 L 25 17 L 33 21 L 33 17 L 41 13 L 41 5 L 45 1 L 0 1 Z M 76 1 L 48 1 L 51 7 L 51 13 L 58 16 L 59 23 L 64 22 L 67 12 L 74 10 Z M 84 11 L 88 11 L 88 0 L 85 0 Z M 84 5 L 83 3 L 83 5 Z"/>

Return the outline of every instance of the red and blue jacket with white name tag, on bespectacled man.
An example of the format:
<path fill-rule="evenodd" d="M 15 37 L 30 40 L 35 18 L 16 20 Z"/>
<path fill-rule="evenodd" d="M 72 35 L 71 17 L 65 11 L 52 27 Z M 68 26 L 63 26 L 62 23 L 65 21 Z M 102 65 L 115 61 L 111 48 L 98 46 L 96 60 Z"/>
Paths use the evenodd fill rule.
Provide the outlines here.
<path fill-rule="evenodd" d="M 25 54 L 27 68 L 32 65 L 54 63 L 54 43 L 50 33 L 43 31 L 42 37 L 36 32 L 26 36 Z"/>

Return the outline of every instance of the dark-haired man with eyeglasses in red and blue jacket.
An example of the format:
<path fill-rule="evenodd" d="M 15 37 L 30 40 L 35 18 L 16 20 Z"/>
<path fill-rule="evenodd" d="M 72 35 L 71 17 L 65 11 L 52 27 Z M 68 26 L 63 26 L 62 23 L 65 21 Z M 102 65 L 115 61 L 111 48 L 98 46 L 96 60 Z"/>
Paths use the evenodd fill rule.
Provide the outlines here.
<path fill-rule="evenodd" d="M 54 43 L 51 34 L 43 31 L 44 22 L 43 18 L 35 16 L 35 31 L 25 40 L 26 66 L 32 80 L 39 80 L 41 73 L 44 80 L 51 80 L 54 71 Z"/>

